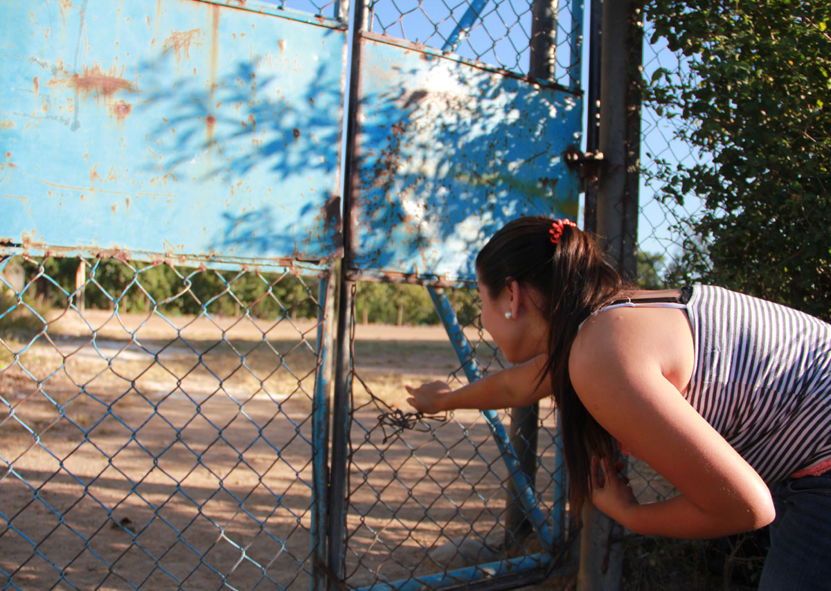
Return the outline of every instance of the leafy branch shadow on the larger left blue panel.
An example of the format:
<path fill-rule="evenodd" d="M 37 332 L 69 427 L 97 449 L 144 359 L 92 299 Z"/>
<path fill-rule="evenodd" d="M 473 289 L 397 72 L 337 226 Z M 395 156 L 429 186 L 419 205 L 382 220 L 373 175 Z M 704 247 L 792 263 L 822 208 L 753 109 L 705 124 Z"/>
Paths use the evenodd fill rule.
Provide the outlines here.
<path fill-rule="evenodd" d="M 273 58 L 253 56 L 224 64 L 210 81 L 163 80 L 177 70 L 173 60 L 162 54 L 141 66 L 145 84 L 159 89 L 147 105 L 165 114 L 150 129 L 155 158 L 145 172 L 204 191 L 220 218 L 209 249 L 337 256 L 342 62 L 316 61 L 297 81 L 277 71 Z"/>

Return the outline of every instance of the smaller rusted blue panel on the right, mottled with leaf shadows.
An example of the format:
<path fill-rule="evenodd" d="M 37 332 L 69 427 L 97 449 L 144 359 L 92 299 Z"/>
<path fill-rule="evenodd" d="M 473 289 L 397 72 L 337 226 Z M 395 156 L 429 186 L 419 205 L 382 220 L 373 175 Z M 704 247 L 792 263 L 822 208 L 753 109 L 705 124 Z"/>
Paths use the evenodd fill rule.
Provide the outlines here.
<path fill-rule="evenodd" d="M 372 38 L 359 84 L 356 268 L 472 279 L 507 220 L 576 218 L 578 95 Z"/>

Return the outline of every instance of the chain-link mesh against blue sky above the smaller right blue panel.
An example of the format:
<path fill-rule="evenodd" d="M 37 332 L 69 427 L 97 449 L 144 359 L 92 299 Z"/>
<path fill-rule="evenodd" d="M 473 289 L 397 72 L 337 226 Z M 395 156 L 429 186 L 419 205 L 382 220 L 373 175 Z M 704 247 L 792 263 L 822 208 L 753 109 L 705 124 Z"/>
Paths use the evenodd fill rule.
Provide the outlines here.
<path fill-rule="evenodd" d="M 543 3 L 539 2 L 540 7 Z M 372 0 L 367 7 L 371 32 L 529 74 L 530 44 L 536 33 L 532 29 L 532 2 L 528 0 Z M 576 87 L 582 3 L 550 2 L 546 8 L 553 16 L 551 80 Z"/>

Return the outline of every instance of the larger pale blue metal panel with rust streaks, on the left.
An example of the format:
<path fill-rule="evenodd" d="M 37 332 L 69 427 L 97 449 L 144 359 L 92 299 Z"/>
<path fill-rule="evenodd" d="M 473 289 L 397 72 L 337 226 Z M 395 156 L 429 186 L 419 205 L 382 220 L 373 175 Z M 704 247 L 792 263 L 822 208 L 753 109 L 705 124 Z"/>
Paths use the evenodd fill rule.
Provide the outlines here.
<path fill-rule="evenodd" d="M 0 240 L 337 254 L 345 32 L 238 4 L 2 2 Z"/>

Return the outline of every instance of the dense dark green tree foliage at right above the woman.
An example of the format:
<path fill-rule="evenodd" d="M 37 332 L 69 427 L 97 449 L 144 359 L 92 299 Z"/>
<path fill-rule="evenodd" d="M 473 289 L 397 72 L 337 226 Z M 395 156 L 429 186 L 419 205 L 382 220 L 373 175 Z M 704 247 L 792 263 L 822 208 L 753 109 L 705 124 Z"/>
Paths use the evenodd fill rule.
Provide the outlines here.
<path fill-rule="evenodd" d="M 688 275 L 831 320 L 831 2 L 648 0 L 645 12 L 652 41 L 690 64 L 689 77 L 654 72 L 646 104 L 680 116 L 680 139 L 706 155 L 661 170 L 662 198 L 706 206 L 686 220 Z"/>

